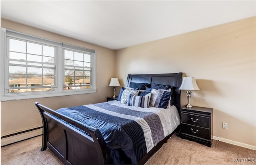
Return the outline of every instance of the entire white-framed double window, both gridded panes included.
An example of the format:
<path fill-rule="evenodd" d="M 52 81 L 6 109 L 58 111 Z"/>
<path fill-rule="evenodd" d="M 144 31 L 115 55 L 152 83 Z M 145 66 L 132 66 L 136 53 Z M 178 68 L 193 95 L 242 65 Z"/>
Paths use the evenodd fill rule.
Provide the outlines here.
<path fill-rule="evenodd" d="M 4 28 L 0 39 L 0 101 L 96 92 L 96 51 Z"/>

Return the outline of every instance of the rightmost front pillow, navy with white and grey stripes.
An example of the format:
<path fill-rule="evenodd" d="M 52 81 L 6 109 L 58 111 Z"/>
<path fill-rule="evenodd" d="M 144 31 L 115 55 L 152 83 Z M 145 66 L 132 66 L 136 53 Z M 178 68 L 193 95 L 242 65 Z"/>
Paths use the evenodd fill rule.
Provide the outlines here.
<path fill-rule="evenodd" d="M 156 108 L 164 108 L 164 109 L 168 107 L 172 92 L 152 89 L 151 93 L 152 94 L 151 94 L 149 106 L 154 106 Z"/>

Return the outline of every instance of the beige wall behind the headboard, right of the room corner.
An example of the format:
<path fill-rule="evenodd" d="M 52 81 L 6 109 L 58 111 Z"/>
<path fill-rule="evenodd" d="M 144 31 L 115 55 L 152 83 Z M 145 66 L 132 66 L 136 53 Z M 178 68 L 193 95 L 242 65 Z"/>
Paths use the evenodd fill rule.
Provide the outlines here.
<path fill-rule="evenodd" d="M 117 50 L 116 76 L 121 85 L 128 74 L 196 77 L 191 104 L 214 108 L 213 136 L 256 146 L 255 29 L 253 17 Z"/>

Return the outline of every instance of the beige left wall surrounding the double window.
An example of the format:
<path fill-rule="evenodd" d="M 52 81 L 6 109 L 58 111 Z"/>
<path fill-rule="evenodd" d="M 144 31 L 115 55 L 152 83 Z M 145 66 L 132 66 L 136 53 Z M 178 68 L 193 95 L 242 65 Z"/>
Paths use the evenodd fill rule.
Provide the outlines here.
<path fill-rule="evenodd" d="M 92 94 L 1 102 L 1 136 L 42 126 L 42 120 L 34 102 L 40 102 L 52 109 L 58 109 L 68 106 L 103 102 L 106 101 L 107 96 L 113 95 L 113 88 L 108 86 L 108 84 L 110 78 L 115 76 L 114 50 L 4 19 L 1 19 L 1 27 L 96 50 L 97 88 L 97 92 Z"/>

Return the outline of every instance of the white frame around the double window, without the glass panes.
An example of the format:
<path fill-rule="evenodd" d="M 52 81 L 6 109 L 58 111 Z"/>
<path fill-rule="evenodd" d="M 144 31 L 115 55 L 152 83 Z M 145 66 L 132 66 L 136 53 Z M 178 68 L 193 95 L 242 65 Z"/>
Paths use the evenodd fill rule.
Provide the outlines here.
<path fill-rule="evenodd" d="M 56 65 L 56 73 L 55 73 L 55 84 L 56 90 L 50 91 L 42 91 L 42 92 L 19 92 L 19 93 L 10 93 L 7 92 L 6 85 L 8 85 L 8 69 L 9 66 L 6 61 L 8 58 L 8 45 L 7 45 L 7 37 L 11 37 L 14 39 L 20 39 L 28 42 L 49 45 L 56 47 L 56 55 L 55 55 L 55 65 Z M 0 28 L 0 101 L 8 101 L 8 100 L 21 100 L 21 99 L 31 99 L 31 98 L 44 98 L 44 97 L 55 97 L 55 96 L 67 96 L 74 94 L 86 94 L 86 93 L 95 93 L 96 92 L 96 51 L 92 49 L 87 49 L 84 47 L 79 47 L 76 45 L 70 45 L 67 43 L 61 43 L 58 41 L 52 41 L 49 39 L 44 39 L 41 37 L 36 37 L 33 35 L 28 35 L 25 33 L 20 33 L 17 31 L 12 31 L 5 28 Z M 85 53 L 89 53 L 91 55 L 91 67 L 92 74 L 90 75 L 90 79 L 92 82 L 92 88 L 84 88 L 84 89 L 69 89 L 64 90 L 64 49 L 73 49 L 73 51 L 83 51 Z M 2 79 L 3 78 L 3 79 Z"/>

